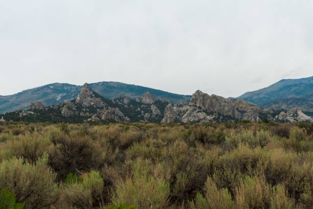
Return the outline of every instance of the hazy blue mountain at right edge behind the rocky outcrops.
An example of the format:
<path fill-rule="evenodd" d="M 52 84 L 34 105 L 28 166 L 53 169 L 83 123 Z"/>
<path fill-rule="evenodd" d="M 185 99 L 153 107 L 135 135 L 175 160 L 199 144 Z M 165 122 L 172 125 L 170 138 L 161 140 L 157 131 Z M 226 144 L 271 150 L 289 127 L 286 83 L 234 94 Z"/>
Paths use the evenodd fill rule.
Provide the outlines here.
<path fill-rule="evenodd" d="M 284 109 L 300 108 L 313 112 L 313 76 L 300 79 L 282 79 L 273 85 L 247 92 L 237 97 L 262 108 L 279 105 Z"/>

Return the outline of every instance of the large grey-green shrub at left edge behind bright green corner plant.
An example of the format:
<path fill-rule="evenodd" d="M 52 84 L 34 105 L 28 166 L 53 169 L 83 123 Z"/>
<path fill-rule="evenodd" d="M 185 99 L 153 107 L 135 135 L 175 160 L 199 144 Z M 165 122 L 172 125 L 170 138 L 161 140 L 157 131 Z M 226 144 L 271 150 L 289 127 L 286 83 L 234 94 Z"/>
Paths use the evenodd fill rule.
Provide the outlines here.
<path fill-rule="evenodd" d="M 8 187 L 17 202 L 25 208 L 42 208 L 58 199 L 56 175 L 47 167 L 48 155 L 44 154 L 34 164 L 23 158 L 13 157 L 0 164 L 0 188 Z"/>

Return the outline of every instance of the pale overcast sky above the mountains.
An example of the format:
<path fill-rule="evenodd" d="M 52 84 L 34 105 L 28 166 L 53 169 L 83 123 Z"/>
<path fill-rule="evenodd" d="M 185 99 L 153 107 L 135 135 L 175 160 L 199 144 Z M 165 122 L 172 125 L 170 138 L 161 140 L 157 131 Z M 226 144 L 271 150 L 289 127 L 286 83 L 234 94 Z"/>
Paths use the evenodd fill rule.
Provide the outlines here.
<path fill-rule="evenodd" d="M 0 1 L 0 95 L 119 81 L 224 97 L 313 75 L 313 1 Z"/>

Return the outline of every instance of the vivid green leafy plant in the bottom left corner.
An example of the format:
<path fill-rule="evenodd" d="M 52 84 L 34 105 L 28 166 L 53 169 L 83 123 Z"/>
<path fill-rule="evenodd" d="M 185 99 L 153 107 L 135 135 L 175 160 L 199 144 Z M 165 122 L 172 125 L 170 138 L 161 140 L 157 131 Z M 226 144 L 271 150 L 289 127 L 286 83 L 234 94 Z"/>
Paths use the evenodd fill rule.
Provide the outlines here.
<path fill-rule="evenodd" d="M 23 209 L 25 203 L 15 203 L 14 194 L 10 193 L 8 187 L 0 190 L 0 208 L 2 209 Z"/>

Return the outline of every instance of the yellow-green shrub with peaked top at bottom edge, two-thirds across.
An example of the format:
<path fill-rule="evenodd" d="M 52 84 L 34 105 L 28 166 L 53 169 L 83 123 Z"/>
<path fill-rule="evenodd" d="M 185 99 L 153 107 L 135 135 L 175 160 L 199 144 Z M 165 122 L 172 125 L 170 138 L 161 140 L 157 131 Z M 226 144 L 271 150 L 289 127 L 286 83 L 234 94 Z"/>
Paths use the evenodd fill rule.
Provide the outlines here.
<path fill-rule="evenodd" d="M 232 209 L 235 203 L 227 189 L 218 190 L 215 183 L 208 177 L 205 184 L 205 195 L 197 193 L 195 201 L 189 202 L 192 209 Z"/>

